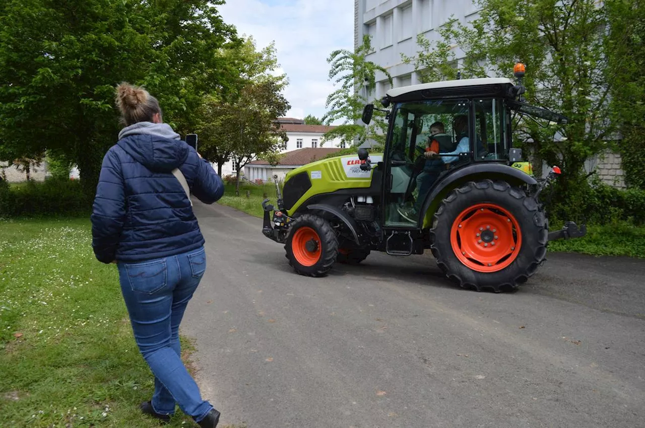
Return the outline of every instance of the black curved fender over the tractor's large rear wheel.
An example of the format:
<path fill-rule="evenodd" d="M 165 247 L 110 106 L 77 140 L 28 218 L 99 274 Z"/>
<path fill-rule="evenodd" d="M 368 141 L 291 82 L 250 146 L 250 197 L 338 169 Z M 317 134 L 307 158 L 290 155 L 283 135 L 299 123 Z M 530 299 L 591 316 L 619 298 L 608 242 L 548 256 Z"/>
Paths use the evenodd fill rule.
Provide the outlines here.
<path fill-rule="evenodd" d="M 537 184 L 537 181 L 527 173 L 506 164 L 477 162 L 449 171 L 446 175 L 439 176 L 435 186 L 426 196 L 421 211 L 426 215 L 420 216 L 419 228 L 427 228 L 432 225 L 435 211 L 450 191 L 466 182 L 484 179 L 506 181 L 511 186 Z"/>

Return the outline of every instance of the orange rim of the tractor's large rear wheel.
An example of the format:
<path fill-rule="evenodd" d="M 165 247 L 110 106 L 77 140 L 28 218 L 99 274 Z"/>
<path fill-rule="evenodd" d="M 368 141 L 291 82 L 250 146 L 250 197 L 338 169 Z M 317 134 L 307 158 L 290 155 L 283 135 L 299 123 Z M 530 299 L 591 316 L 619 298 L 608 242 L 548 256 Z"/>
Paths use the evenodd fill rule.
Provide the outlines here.
<path fill-rule="evenodd" d="M 515 217 L 496 204 L 477 204 L 461 211 L 450 230 L 450 243 L 462 264 L 477 272 L 508 267 L 522 248 Z"/>

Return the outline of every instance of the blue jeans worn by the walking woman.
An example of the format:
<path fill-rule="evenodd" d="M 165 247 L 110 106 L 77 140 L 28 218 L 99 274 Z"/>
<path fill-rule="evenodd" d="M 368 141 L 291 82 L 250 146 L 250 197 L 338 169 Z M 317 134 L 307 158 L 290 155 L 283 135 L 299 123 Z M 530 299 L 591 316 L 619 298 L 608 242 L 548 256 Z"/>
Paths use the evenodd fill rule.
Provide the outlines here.
<path fill-rule="evenodd" d="M 206 271 L 204 248 L 141 263 L 117 264 L 134 338 L 155 376 L 152 407 L 173 414 L 179 408 L 201 421 L 213 406 L 181 361 L 179 324 Z"/>

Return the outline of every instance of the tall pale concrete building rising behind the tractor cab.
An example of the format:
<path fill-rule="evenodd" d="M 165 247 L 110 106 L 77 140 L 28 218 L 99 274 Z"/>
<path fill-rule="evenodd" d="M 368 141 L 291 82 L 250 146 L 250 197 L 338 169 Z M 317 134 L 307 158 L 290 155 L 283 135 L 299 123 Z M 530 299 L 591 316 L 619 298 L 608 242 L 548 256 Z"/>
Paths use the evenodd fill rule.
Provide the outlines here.
<path fill-rule="evenodd" d="M 471 0 L 355 0 L 354 44 L 359 46 L 363 35 L 371 35 L 373 52 L 366 59 L 388 70 L 394 88 L 417 84 L 420 82 L 414 66 L 403 63 L 401 53 L 415 55 L 419 34 L 429 40 L 438 39 L 436 29 L 451 15 L 466 23 L 477 19 L 478 11 Z M 458 59 L 460 56 L 457 52 Z M 390 89 L 384 73 L 377 73 L 376 80 L 375 92 L 365 94 L 368 98 L 380 99 Z"/>

